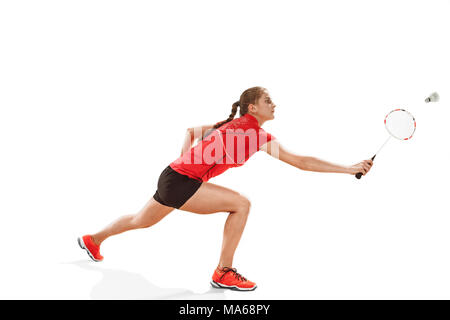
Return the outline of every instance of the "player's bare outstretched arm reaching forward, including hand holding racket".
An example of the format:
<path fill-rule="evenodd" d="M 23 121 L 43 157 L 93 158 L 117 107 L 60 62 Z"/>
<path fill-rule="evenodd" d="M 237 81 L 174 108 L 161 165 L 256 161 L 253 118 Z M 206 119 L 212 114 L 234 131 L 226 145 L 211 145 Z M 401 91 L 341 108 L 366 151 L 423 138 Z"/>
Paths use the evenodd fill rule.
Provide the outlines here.
<path fill-rule="evenodd" d="M 267 152 L 274 158 L 306 171 L 348 173 L 353 175 L 362 172 L 363 175 L 366 175 L 373 164 L 372 160 L 364 160 L 352 166 L 343 166 L 315 157 L 301 156 L 288 151 L 277 140 L 269 141 L 260 150 Z"/>

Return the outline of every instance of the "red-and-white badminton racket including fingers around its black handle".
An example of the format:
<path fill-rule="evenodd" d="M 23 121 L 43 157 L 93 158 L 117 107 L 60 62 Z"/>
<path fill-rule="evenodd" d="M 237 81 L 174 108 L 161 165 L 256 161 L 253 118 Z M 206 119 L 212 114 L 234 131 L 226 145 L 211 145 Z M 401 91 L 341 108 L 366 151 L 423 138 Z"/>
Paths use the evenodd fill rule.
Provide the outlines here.
<path fill-rule="evenodd" d="M 386 127 L 387 132 L 389 133 L 389 137 L 386 139 L 386 141 L 383 143 L 383 145 L 377 151 L 377 153 L 375 153 L 371 161 L 375 160 L 377 154 L 380 152 L 381 149 L 383 149 L 383 147 L 391 139 L 391 137 L 394 137 L 399 140 L 409 140 L 412 138 L 414 132 L 416 131 L 416 120 L 414 119 L 411 113 L 409 113 L 404 109 L 395 109 L 389 112 L 387 116 L 384 118 L 384 125 Z M 362 171 L 364 171 L 355 174 L 355 177 L 357 179 L 361 179 L 361 177 L 364 174 L 366 174 L 367 171 L 370 170 L 370 167 L 372 166 L 371 161 L 366 160 L 355 165 L 360 166 L 361 168 L 363 168 Z"/>

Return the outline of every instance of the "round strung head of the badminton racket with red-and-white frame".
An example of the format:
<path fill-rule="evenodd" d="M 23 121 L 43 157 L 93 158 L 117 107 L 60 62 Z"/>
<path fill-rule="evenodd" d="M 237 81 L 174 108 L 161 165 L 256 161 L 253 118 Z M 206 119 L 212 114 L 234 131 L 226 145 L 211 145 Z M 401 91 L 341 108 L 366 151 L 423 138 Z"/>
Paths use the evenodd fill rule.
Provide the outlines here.
<path fill-rule="evenodd" d="M 416 131 L 416 119 L 405 109 L 395 109 L 384 118 L 387 132 L 398 140 L 409 140 Z"/>

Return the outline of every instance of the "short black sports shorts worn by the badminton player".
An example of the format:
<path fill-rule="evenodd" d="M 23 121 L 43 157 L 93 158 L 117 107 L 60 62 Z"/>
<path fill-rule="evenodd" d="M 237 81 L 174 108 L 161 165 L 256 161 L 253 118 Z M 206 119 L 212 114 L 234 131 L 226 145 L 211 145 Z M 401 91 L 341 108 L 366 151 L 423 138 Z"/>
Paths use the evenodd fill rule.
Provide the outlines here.
<path fill-rule="evenodd" d="M 159 176 L 158 189 L 153 198 L 159 203 L 180 208 L 200 188 L 202 182 L 178 173 L 167 166 Z"/>

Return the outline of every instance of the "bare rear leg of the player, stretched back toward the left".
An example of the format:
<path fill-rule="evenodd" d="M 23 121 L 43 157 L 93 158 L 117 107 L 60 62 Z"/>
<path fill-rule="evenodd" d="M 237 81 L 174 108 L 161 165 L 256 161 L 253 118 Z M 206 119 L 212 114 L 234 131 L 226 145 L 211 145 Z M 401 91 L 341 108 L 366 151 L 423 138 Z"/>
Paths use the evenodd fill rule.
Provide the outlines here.
<path fill-rule="evenodd" d="M 99 245 L 112 235 L 128 230 L 148 228 L 159 222 L 173 210 L 174 208 L 164 206 L 152 197 L 138 213 L 120 217 L 103 230 L 92 234 L 92 239 L 95 244 Z"/>

